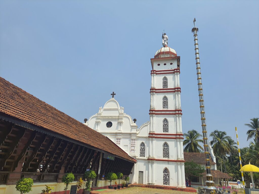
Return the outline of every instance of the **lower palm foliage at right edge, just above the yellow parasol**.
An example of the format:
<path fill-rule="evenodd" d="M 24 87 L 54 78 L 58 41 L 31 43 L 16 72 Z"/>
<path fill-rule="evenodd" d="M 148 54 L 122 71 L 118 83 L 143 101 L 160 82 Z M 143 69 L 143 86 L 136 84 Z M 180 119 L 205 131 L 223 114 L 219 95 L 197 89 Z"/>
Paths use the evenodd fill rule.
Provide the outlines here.
<path fill-rule="evenodd" d="M 244 154 L 246 163 L 251 163 L 252 165 L 259 166 L 259 142 L 251 142 L 247 153 Z"/>

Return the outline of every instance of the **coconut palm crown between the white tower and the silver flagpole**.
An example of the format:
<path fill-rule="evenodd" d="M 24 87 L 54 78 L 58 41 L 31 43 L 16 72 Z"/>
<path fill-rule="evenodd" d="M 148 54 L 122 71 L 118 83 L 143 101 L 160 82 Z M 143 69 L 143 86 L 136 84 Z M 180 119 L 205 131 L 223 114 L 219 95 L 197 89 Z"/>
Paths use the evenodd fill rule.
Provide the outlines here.
<path fill-rule="evenodd" d="M 198 139 L 202 137 L 200 133 L 196 130 L 190 130 L 187 133 L 184 133 L 183 136 L 185 137 L 185 140 L 183 141 L 183 145 L 186 145 L 184 148 L 185 152 L 202 152 L 203 148 L 199 145 L 199 143 L 202 143 L 202 139 Z"/>

